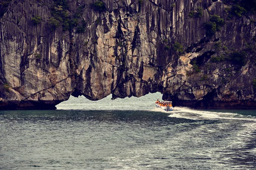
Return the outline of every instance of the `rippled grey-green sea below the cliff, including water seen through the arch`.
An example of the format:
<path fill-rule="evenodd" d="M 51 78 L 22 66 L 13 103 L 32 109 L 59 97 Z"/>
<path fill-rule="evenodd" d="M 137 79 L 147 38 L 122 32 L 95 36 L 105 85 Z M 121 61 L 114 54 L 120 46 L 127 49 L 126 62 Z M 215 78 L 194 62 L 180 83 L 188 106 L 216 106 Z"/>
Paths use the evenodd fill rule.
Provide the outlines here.
<path fill-rule="evenodd" d="M 0 111 L 4 170 L 256 169 L 255 110 L 155 108 L 161 94 Z"/>

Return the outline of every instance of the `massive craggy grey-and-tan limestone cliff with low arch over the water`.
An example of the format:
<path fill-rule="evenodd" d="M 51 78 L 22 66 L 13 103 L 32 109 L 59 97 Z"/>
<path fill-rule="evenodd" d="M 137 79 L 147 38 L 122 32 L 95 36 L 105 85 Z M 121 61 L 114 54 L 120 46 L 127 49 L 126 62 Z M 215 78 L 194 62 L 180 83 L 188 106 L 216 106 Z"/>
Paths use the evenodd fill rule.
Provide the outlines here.
<path fill-rule="evenodd" d="M 256 16 L 214 1 L 11 0 L 0 18 L 0 109 L 157 91 L 174 106 L 256 108 Z M 215 30 L 214 14 L 225 20 Z"/>

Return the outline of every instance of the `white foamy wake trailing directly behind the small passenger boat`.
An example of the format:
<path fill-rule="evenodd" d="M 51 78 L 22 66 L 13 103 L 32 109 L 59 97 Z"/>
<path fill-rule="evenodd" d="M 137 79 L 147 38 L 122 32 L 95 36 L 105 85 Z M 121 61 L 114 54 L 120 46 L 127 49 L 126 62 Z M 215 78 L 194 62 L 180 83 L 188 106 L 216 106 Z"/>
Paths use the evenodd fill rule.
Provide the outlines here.
<path fill-rule="evenodd" d="M 173 114 L 169 117 L 192 119 L 192 120 L 204 120 L 204 119 L 232 119 L 232 120 L 249 120 L 256 122 L 255 116 L 241 115 L 238 113 L 229 112 L 215 112 L 215 111 L 200 111 L 186 107 L 174 107 Z"/>

